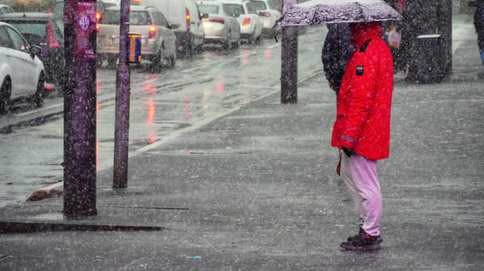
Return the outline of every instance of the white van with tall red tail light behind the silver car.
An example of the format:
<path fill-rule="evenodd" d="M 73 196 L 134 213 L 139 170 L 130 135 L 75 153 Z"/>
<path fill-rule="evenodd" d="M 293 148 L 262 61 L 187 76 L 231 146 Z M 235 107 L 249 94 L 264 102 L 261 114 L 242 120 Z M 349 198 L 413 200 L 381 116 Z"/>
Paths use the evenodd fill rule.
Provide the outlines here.
<path fill-rule="evenodd" d="M 202 17 L 195 0 L 131 0 L 139 6 L 154 6 L 162 12 L 170 24 L 176 24 L 176 48 L 178 53 L 192 55 L 195 48 L 203 45 Z"/>

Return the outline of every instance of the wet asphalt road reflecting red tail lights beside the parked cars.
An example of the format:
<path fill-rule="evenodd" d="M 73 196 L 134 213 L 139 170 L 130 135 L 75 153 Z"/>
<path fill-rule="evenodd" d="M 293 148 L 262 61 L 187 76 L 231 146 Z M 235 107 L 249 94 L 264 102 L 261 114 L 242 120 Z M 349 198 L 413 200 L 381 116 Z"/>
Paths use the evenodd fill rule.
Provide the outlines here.
<path fill-rule="evenodd" d="M 301 31 L 299 78 L 322 70 L 319 51 L 325 35 L 326 26 Z M 161 73 L 152 73 L 149 62 L 132 66 L 129 151 L 277 90 L 280 62 L 280 41 L 266 37 L 233 50 L 205 46 Z M 0 206 L 24 201 L 62 180 L 63 106 L 54 93 L 41 109 L 19 103 L 0 116 Z M 115 68 L 104 62 L 97 70 L 98 170 L 113 163 L 114 113 Z"/>

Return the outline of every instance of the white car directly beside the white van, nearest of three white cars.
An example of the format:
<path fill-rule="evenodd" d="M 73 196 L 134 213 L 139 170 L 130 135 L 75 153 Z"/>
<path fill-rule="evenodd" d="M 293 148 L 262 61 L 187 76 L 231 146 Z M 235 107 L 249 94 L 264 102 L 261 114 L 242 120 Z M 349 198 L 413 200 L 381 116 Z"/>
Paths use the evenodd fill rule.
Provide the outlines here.
<path fill-rule="evenodd" d="M 241 41 L 241 26 L 236 14 L 230 13 L 228 1 L 200 1 L 198 10 L 207 14 L 203 18 L 205 43 L 219 43 L 223 48 L 239 47 Z"/>

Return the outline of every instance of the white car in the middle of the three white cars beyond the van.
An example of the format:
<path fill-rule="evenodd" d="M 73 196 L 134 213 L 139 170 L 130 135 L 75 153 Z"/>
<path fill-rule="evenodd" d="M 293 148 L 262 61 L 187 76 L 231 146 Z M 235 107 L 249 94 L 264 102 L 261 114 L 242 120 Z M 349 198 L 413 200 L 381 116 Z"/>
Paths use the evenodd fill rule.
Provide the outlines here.
<path fill-rule="evenodd" d="M 263 22 L 254 3 L 249 0 L 230 0 L 227 9 L 239 20 L 241 38 L 250 42 L 261 38 Z"/>

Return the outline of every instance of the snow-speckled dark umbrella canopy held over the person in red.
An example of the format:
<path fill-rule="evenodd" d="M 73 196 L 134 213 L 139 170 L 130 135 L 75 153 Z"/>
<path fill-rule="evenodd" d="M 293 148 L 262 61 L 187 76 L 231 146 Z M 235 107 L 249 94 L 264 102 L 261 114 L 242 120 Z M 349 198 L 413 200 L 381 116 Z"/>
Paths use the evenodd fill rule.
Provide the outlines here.
<path fill-rule="evenodd" d="M 274 27 L 401 19 L 396 10 L 381 0 L 310 0 L 292 6 Z"/>

